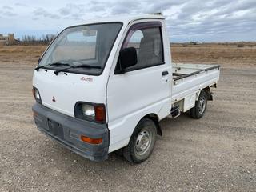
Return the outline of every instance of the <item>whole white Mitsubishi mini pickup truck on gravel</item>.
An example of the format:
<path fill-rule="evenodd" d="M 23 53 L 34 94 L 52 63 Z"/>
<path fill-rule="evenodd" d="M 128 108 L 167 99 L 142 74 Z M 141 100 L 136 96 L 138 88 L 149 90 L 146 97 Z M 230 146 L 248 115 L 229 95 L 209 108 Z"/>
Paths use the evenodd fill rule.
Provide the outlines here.
<path fill-rule="evenodd" d="M 159 121 L 187 112 L 202 118 L 219 66 L 172 63 L 165 18 L 103 18 L 70 26 L 34 70 L 38 130 L 70 150 L 102 161 L 119 150 L 149 158 Z"/>

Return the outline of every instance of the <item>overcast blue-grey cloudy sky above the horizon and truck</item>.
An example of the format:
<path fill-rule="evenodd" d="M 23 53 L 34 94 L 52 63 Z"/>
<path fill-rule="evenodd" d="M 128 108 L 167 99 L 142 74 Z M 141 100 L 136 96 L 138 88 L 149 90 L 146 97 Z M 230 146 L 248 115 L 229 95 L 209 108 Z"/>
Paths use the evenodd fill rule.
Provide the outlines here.
<path fill-rule="evenodd" d="M 0 34 L 57 34 L 86 19 L 154 12 L 171 42 L 256 41 L 256 0 L 1 0 Z"/>

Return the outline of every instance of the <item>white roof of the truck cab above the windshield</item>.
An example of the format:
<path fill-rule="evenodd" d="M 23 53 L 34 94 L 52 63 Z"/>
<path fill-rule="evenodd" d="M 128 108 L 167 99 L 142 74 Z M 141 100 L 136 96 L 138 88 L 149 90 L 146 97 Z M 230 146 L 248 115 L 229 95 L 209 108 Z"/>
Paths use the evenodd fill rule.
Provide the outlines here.
<path fill-rule="evenodd" d="M 82 24 L 90 24 L 90 23 L 99 23 L 99 22 L 123 22 L 129 23 L 134 20 L 138 19 L 146 19 L 146 18 L 156 18 L 156 19 L 165 19 L 162 15 L 159 14 L 141 14 L 141 15 L 122 15 L 122 16 L 115 16 L 111 18 L 95 18 L 91 20 L 87 20 Z"/>

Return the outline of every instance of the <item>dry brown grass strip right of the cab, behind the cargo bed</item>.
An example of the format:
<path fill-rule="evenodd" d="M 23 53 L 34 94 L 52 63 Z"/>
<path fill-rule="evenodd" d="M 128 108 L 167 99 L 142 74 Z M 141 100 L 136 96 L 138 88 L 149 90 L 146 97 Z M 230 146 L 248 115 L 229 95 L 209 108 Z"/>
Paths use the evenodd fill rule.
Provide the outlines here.
<path fill-rule="evenodd" d="M 174 62 L 219 63 L 223 66 L 256 66 L 256 46 L 199 45 L 172 46 Z"/>

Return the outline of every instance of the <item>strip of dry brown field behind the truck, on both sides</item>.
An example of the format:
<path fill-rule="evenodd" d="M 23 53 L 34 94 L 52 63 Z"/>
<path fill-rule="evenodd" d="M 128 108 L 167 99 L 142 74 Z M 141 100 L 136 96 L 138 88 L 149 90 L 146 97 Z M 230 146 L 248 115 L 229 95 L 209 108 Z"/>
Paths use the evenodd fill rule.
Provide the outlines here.
<path fill-rule="evenodd" d="M 37 63 L 46 46 L 0 46 L 0 62 Z M 238 44 L 171 45 L 173 62 L 220 63 L 223 66 L 256 66 L 256 46 Z"/>

